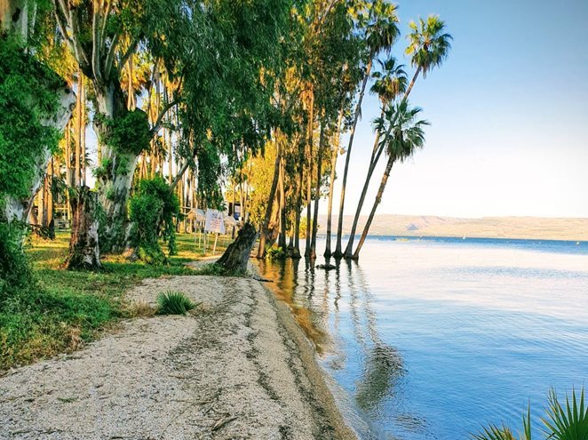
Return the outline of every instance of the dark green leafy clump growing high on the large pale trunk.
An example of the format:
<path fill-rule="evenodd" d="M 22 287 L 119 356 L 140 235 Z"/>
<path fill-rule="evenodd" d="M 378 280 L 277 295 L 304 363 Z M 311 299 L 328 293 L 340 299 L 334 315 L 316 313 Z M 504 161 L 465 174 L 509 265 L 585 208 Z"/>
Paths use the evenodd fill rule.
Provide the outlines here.
<path fill-rule="evenodd" d="M 100 131 L 102 133 L 100 141 L 114 148 L 118 153 L 139 156 L 149 147 L 151 133 L 147 113 L 139 108 L 115 118 L 98 114 L 94 116 L 94 121 L 104 127 L 104 130 Z M 126 169 L 125 165 L 118 164 L 118 168 Z"/>

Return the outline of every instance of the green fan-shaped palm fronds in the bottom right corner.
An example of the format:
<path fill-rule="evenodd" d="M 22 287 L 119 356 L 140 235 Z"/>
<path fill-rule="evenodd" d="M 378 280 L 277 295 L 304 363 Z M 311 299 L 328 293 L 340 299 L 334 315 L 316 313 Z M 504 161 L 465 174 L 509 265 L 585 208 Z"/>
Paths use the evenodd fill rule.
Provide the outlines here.
<path fill-rule="evenodd" d="M 572 390 L 571 400 L 566 394 L 566 404 L 560 404 L 557 394 L 552 389 L 549 393 L 549 405 L 545 410 L 545 416 L 541 421 L 544 423 L 544 434 L 546 439 L 553 440 L 588 440 L 588 407 L 584 406 L 584 388 L 579 398 L 576 398 L 576 390 Z M 531 439 L 531 412 L 522 420 L 523 433 L 519 440 Z M 497 427 L 490 425 L 483 428 L 483 432 L 474 435 L 475 440 L 517 440 L 511 428 Z"/>

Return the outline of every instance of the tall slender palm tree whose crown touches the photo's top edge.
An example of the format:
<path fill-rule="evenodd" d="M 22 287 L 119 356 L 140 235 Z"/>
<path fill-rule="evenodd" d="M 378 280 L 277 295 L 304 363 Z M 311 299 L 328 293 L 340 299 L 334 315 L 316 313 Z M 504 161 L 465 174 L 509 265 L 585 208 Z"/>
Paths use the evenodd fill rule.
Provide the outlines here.
<path fill-rule="evenodd" d="M 366 45 L 369 49 L 368 61 L 365 67 L 365 73 L 363 74 L 362 87 L 360 89 L 360 95 L 357 99 L 357 104 L 354 111 L 354 123 L 351 127 L 349 134 L 349 143 L 347 145 L 347 156 L 345 161 L 345 171 L 343 172 L 343 182 L 341 186 L 341 198 L 339 202 L 339 217 L 337 227 L 337 247 L 335 257 L 340 258 L 343 256 L 341 252 L 341 235 L 343 231 L 343 210 L 345 207 L 345 192 L 347 183 L 347 172 L 349 170 L 349 158 L 351 157 L 351 148 L 354 145 L 354 134 L 357 121 L 362 115 L 362 100 L 365 93 L 366 84 L 368 84 L 369 74 L 371 71 L 371 65 L 374 58 L 380 52 L 390 52 L 396 38 L 399 36 L 400 31 L 398 30 L 398 15 L 396 13 L 397 6 L 395 4 L 386 3 L 385 0 L 375 0 L 373 4 L 369 6 L 369 17 L 368 24 L 366 26 Z"/>

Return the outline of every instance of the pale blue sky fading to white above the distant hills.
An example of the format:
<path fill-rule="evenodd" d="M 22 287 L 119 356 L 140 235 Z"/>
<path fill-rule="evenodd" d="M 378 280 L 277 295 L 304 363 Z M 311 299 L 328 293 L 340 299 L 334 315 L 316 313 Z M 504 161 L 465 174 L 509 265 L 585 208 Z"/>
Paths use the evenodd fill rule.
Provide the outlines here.
<path fill-rule="evenodd" d="M 409 77 L 414 69 L 403 54 L 409 20 L 439 14 L 454 40 L 448 60 L 419 78 L 410 95 L 431 123 L 425 148 L 394 165 L 377 213 L 588 217 L 588 0 L 397 4 L 402 36 L 393 55 Z M 362 190 L 378 114 L 377 99 L 367 97 L 346 214 L 354 213 Z M 344 165 L 341 156 L 335 210 Z"/>

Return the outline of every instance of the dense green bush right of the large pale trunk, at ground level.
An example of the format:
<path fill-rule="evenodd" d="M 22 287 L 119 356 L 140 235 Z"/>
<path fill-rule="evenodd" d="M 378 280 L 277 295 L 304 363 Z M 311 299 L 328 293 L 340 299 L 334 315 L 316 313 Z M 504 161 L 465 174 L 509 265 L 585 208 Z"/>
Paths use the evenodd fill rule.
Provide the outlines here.
<path fill-rule="evenodd" d="M 139 259 L 155 265 L 166 263 L 157 239 L 162 236 L 168 243 L 170 255 L 177 252 L 173 220 L 179 217 L 178 197 L 162 177 L 141 180 L 137 193 L 131 197 L 130 212 L 131 236 Z"/>

